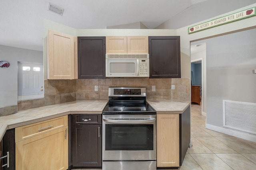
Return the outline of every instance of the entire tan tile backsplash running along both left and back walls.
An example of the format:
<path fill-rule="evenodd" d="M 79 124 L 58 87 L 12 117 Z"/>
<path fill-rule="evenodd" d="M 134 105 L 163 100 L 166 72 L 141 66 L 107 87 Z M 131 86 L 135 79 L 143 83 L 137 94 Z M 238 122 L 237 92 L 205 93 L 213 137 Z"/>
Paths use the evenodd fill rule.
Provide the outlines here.
<path fill-rule="evenodd" d="M 171 90 L 171 85 L 175 85 L 175 90 Z M 94 91 L 94 86 L 98 86 L 98 91 Z M 108 100 L 108 87 L 117 86 L 146 87 L 147 99 L 190 100 L 189 78 L 44 80 L 44 98 L 18 101 L 18 111 L 76 100 Z M 152 86 L 156 86 L 155 92 Z M 17 106 L 0 108 L 0 116 L 13 113 L 17 113 Z"/>

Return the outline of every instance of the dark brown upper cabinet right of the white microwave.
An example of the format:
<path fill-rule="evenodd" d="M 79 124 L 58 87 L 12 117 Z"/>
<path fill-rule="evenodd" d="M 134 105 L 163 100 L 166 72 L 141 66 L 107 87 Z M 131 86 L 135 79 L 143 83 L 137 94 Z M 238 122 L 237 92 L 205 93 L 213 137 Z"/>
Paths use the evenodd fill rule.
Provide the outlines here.
<path fill-rule="evenodd" d="M 180 78 L 180 36 L 148 37 L 149 78 Z"/>

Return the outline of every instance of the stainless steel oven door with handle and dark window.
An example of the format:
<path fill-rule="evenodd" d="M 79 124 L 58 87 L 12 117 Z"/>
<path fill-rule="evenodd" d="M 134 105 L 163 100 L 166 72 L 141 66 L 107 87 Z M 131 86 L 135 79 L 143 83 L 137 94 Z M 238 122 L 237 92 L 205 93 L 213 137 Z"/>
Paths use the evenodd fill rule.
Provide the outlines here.
<path fill-rule="evenodd" d="M 102 160 L 156 160 L 156 115 L 103 115 Z"/>

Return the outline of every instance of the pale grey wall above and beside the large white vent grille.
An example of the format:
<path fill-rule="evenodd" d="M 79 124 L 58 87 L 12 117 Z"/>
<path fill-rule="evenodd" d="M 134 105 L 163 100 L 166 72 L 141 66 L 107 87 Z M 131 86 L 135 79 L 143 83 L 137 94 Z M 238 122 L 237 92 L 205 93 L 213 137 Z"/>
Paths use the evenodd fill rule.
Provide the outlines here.
<path fill-rule="evenodd" d="M 223 127 L 222 100 L 256 103 L 256 29 L 206 40 L 207 124 Z"/>

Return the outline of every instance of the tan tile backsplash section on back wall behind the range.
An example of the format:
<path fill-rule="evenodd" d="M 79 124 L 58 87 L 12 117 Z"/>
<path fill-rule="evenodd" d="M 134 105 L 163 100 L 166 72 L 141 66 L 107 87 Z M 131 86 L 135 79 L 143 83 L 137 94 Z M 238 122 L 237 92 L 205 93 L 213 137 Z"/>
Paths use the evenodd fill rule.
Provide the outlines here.
<path fill-rule="evenodd" d="M 171 90 L 175 85 L 175 90 Z M 94 91 L 98 86 L 98 91 Z M 146 87 L 147 99 L 190 100 L 188 78 L 107 78 L 76 80 L 76 100 L 108 100 L 108 87 Z M 152 86 L 156 91 L 152 92 Z"/>

